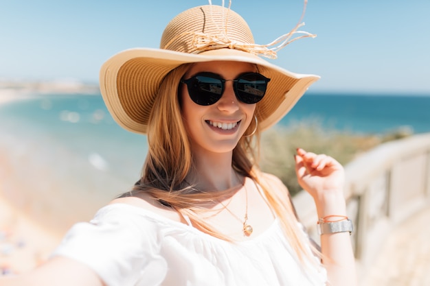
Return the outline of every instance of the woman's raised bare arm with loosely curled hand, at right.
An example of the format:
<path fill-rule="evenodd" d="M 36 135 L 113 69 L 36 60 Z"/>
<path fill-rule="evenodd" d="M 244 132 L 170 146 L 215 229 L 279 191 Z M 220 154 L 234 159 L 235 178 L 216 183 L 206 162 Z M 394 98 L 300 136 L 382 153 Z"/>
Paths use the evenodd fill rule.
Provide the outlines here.
<path fill-rule="evenodd" d="M 299 184 L 312 195 L 319 218 L 346 217 L 343 196 L 344 171 L 337 160 L 297 149 L 296 173 Z M 323 264 L 333 286 L 357 285 L 350 233 L 321 235 Z"/>

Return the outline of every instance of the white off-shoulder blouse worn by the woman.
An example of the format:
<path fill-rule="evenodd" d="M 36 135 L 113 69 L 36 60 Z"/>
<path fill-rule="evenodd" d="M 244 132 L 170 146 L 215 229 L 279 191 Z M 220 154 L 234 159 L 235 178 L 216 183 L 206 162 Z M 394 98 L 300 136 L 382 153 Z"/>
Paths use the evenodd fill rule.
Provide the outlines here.
<path fill-rule="evenodd" d="M 88 265 L 108 286 L 326 285 L 320 265 L 304 267 L 280 223 L 231 243 L 128 204 L 104 206 L 69 230 L 54 256 Z"/>

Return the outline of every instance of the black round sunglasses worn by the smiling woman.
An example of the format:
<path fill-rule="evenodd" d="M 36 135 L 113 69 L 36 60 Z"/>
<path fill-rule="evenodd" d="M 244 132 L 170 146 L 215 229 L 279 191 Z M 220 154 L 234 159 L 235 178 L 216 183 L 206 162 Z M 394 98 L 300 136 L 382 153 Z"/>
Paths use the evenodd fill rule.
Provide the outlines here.
<path fill-rule="evenodd" d="M 264 97 L 270 78 L 260 73 L 242 73 L 235 80 L 225 80 L 216 73 L 197 73 L 188 80 L 181 80 L 188 87 L 188 94 L 193 102 L 208 106 L 218 102 L 223 96 L 225 82 L 233 82 L 237 99 L 245 104 L 256 104 Z"/>

